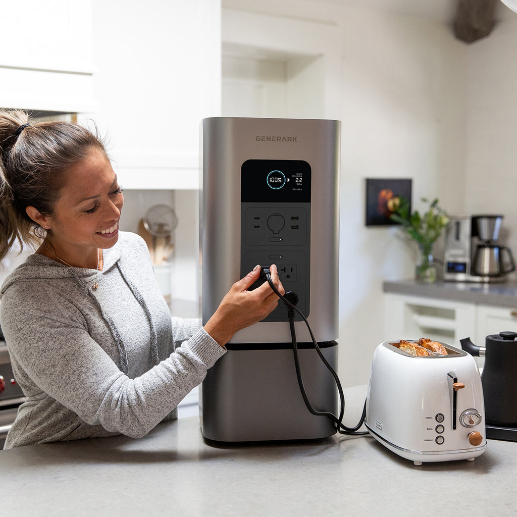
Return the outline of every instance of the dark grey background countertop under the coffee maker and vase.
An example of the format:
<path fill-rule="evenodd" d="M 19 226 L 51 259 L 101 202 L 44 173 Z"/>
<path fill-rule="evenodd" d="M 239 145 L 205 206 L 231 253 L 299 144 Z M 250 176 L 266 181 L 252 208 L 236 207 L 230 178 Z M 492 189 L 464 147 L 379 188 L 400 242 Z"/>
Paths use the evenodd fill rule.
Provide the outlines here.
<path fill-rule="evenodd" d="M 517 282 L 482 284 L 475 282 L 435 282 L 424 284 L 415 280 L 383 283 L 385 293 L 440 298 L 467 303 L 482 303 L 517 308 Z"/>

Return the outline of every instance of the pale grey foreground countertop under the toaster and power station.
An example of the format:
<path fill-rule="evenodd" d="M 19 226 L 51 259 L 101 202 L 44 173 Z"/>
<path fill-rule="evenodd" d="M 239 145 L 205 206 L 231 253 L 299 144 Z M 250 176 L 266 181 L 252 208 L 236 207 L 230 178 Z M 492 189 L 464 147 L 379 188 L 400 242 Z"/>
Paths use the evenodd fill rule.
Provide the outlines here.
<path fill-rule="evenodd" d="M 366 386 L 347 388 L 345 423 Z M 140 439 L 94 438 L 0 451 L 2 515 L 510 515 L 517 443 L 475 461 L 414 466 L 370 436 L 212 447 L 199 418 Z"/>

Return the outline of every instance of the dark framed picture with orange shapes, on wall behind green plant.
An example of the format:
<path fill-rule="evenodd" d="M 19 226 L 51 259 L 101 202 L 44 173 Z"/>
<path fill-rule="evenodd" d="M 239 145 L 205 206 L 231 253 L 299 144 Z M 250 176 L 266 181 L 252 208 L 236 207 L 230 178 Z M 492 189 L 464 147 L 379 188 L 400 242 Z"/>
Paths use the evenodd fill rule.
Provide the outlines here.
<path fill-rule="evenodd" d="M 392 226 L 399 223 L 390 219 L 391 214 L 405 197 L 411 212 L 411 179 L 367 178 L 366 180 L 366 225 Z"/>

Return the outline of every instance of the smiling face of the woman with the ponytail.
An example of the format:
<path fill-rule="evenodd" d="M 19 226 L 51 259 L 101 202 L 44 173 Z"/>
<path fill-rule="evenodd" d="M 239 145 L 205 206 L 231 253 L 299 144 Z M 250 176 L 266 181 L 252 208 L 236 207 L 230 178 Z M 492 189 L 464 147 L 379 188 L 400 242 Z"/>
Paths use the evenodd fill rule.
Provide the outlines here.
<path fill-rule="evenodd" d="M 48 240 L 60 258 L 77 265 L 98 248 L 115 244 L 124 196 L 110 160 L 100 149 L 92 148 L 65 176 L 61 196 L 49 217 Z"/>

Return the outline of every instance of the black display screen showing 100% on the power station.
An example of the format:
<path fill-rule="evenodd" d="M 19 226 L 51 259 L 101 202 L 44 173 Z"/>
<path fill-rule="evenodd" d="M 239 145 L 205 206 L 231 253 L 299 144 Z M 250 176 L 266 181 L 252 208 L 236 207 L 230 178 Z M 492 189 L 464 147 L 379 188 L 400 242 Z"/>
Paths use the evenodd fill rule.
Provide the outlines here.
<path fill-rule="evenodd" d="M 310 203 L 311 166 L 304 160 L 246 160 L 242 203 Z"/>

